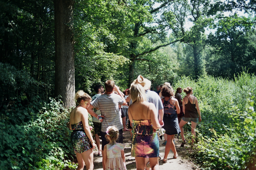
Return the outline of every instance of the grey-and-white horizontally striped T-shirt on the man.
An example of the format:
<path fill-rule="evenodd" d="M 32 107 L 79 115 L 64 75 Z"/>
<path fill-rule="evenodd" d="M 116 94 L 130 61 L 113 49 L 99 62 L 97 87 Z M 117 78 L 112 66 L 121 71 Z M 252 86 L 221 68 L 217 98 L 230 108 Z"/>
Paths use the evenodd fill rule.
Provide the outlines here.
<path fill-rule="evenodd" d="M 120 122 L 119 107 L 124 100 L 117 94 L 103 94 L 93 100 L 91 105 L 100 109 L 101 115 L 105 116 L 101 123 L 101 131 L 106 132 L 108 126 L 116 126 L 118 130 L 124 126 Z"/>

